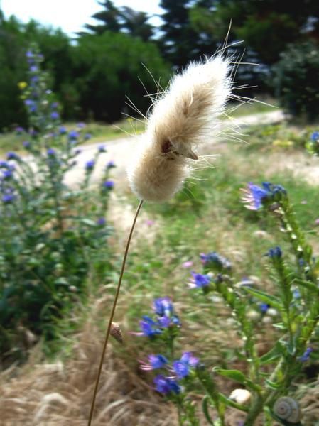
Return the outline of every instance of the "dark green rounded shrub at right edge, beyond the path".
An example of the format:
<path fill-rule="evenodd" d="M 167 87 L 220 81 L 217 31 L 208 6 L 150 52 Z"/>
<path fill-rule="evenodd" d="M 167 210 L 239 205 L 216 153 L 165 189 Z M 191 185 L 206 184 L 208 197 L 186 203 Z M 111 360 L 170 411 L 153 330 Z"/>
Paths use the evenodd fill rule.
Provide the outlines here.
<path fill-rule="evenodd" d="M 308 42 L 291 45 L 281 53 L 281 60 L 273 67 L 274 86 L 281 107 L 292 116 L 303 116 L 309 121 L 319 114 L 319 58 L 318 46 Z"/>

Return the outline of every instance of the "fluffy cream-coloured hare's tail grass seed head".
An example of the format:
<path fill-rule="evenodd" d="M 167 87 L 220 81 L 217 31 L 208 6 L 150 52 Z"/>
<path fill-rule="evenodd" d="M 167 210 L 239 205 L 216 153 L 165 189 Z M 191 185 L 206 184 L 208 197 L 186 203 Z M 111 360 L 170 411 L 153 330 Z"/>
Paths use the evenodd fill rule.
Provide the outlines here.
<path fill-rule="evenodd" d="M 146 133 L 129 166 L 131 189 L 141 200 L 171 198 L 198 160 L 198 143 L 217 136 L 218 117 L 231 94 L 230 60 L 194 62 L 153 103 Z"/>

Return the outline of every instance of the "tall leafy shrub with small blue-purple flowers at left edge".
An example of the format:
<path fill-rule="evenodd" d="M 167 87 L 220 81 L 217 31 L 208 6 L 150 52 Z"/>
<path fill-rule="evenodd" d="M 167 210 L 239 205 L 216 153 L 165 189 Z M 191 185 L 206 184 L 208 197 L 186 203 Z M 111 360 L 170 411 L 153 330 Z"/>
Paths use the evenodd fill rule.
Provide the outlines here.
<path fill-rule="evenodd" d="M 31 127 L 16 129 L 26 155 L 9 152 L 0 162 L 2 359 L 21 356 L 40 334 L 53 339 L 55 320 L 85 297 L 92 257 L 110 232 L 104 215 L 114 185 L 109 162 L 99 196 L 88 190 L 103 146 L 85 164 L 79 187 L 67 185 L 77 146 L 90 135 L 85 124 L 69 132 L 61 125 L 60 105 L 40 70 L 42 56 L 33 48 L 26 57 L 29 82 L 21 88 Z M 99 256 L 94 262 L 99 273 L 107 271 Z"/>

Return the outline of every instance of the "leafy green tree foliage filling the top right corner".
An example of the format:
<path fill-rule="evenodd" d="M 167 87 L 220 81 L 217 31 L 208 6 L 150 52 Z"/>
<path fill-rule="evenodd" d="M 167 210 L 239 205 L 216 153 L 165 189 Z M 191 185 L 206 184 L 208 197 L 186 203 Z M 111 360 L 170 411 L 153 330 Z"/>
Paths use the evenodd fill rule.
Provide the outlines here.
<path fill-rule="evenodd" d="M 213 19 L 217 33 L 232 20 L 232 38 L 244 40 L 266 65 L 279 60 L 288 43 L 319 40 L 318 0 L 219 0 Z"/>

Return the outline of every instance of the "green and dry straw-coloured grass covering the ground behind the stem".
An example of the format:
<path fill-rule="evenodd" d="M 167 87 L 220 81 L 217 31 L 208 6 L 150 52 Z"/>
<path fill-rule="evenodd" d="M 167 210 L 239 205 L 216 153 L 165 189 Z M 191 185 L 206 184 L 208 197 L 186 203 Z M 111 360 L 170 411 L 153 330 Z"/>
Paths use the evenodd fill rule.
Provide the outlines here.
<path fill-rule="evenodd" d="M 316 219 L 319 218 L 319 175 L 316 182 L 313 180 L 315 185 L 306 181 L 307 167 L 312 159 L 303 148 L 314 129 L 315 127 L 297 129 L 286 124 L 247 129 L 245 133 L 249 135 L 249 144 L 215 146 L 212 154 L 217 157 L 212 165 L 193 174 L 171 202 L 145 204 L 131 247 L 116 315 L 124 332 L 124 344 L 113 342 L 112 351 L 107 356 L 102 375 L 104 391 L 101 391 L 98 399 L 99 415 L 96 425 L 178 424 L 175 409 L 149 388 L 151 374 L 141 373 L 138 368 L 138 360 L 145 359 L 147 354 L 158 353 L 161 346 L 130 334 L 139 331 L 139 320 L 142 315 L 148 315 L 151 311 L 154 297 L 169 296 L 174 302 L 176 313 L 182 322 L 176 348 L 178 352 L 193 351 L 209 368 L 244 367 L 244 359 L 240 355 L 241 343 L 228 308 L 218 297 L 205 297 L 190 290 L 190 271 L 202 272 L 200 253 L 217 251 L 232 263 L 239 283 L 243 279 L 249 279 L 261 290 L 275 291 L 265 254 L 277 245 L 281 246 L 288 260 L 291 253 L 276 218 L 251 212 L 240 201 L 240 189 L 247 182 L 260 184 L 271 181 L 286 188 L 296 207 L 298 222 L 318 255 Z M 106 133 L 106 129 L 102 130 L 99 126 L 90 131 L 96 140 L 105 140 L 106 134 L 110 138 L 117 134 L 111 131 Z M 296 170 L 288 167 L 296 163 L 304 165 L 303 176 L 298 178 L 294 174 Z M 131 209 L 135 209 L 137 202 L 131 194 L 123 193 L 120 196 L 123 211 L 128 204 Z M 117 220 L 120 218 L 113 218 L 115 234 L 110 241 L 114 251 L 114 271 L 119 271 L 122 246 L 126 239 L 125 235 L 117 231 Z M 193 266 L 185 268 L 183 264 L 186 261 L 191 261 Z M 55 371 L 49 380 L 45 368 L 35 366 L 38 361 L 37 355 L 33 353 L 33 358 L 31 356 L 31 361 L 20 378 L 9 386 L 7 395 L 17 397 L 21 389 L 28 387 L 33 387 L 38 393 L 27 396 L 24 400 L 23 408 L 28 411 L 25 417 L 14 417 L 17 413 L 15 410 L 12 410 L 10 417 L 11 411 L 6 410 L 8 425 L 12 418 L 24 418 L 25 424 L 31 424 L 32 415 L 38 413 L 37 409 L 40 410 L 37 406 L 46 407 L 43 408 L 43 413 L 46 414 L 42 418 L 48 424 L 56 422 L 55 424 L 60 425 L 85 425 L 92 391 L 92 386 L 88 386 L 88 383 L 94 380 L 94 366 L 99 359 L 105 319 L 116 282 L 117 273 L 114 273 L 107 282 L 97 283 L 99 285 L 95 286 L 90 302 L 85 307 L 78 307 L 75 318 L 65 325 L 61 333 L 64 334 L 64 347 L 60 346 L 63 350 L 55 356 L 52 364 L 56 366 L 57 362 L 62 361 L 64 376 L 59 376 L 60 373 Z M 254 321 L 258 348 L 264 353 L 279 338 L 279 332 L 272 327 L 276 318 L 264 320 L 257 302 L 252 302 L 251 310 L 256 314 Z M 81 326 L 74 327 L 76 322 Z M 73 331 L 74 328 L 76 332 Z M 314 339 L 313 344 L 317 347 L 318 341 Z M 319 418 L 317 373 L 318 355 L 314 354 L 299 378 L 301 385 L 296 383 L 295 386 L 295 393 L 303 407 L 313 404 L 311 410 L 306 410 L 303 423 L 306 426 L 318 425 L 315 422 Z M 39 387 L 36 383 L 40 383 L 40 378 L 43 378 L 43 384 Z M 221 380 L 219 384 L 226 394 L 234 388 L 234 383 L 227 380 Z M 53 404 L 50 408 L 45 403 L 40 405 L 41 398 L 43 400 L 45 394 L 52 392 L 60 393 L 65 398 L 68 409 L 62 415 L 58 405 Z M 61 401 L 63 400 L 60 403 Z M 18 403 L 16 407 L 19 407 Z M 0 409 L 0 415 L 2 414 L 5 415 Z M 238 424 L 239 417 L 236 413 L 230 413 L 229 419 L 229 425 Z M 200 424 L 205 425 L 205 422 Z"/>

